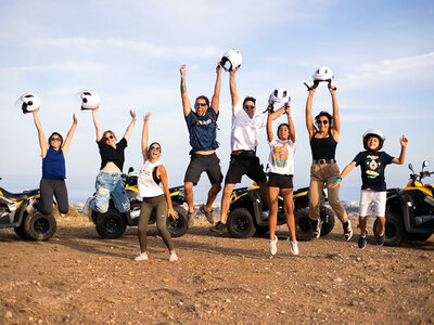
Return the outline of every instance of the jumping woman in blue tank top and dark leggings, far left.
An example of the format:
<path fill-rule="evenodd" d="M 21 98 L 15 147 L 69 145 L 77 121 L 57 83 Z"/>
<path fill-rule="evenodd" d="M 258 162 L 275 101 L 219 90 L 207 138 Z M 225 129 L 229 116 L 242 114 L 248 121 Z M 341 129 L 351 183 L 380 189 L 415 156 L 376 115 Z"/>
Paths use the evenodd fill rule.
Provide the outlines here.
<path fill-rule="evenodd" d="M 39 146 L 42 156 L 42 179 L 40 181 L 40 200 L 35 205 L 41 213 L 51 214 L 53 211 L 53 195 L 58 203 L 61 216 L 67 213 L 69 204 L 67 198 L 67 190 L 65 184 L 65 155 L 69 148 L 77 127 L 77 118 L 73 114 L 73 126 L 71 127 L 65 141 L 60 133 L 53 132 L 48 141 L 39 121 L 38 112 L 34 110 L 34 120 L 36 130 L 38 131 Z"/>

